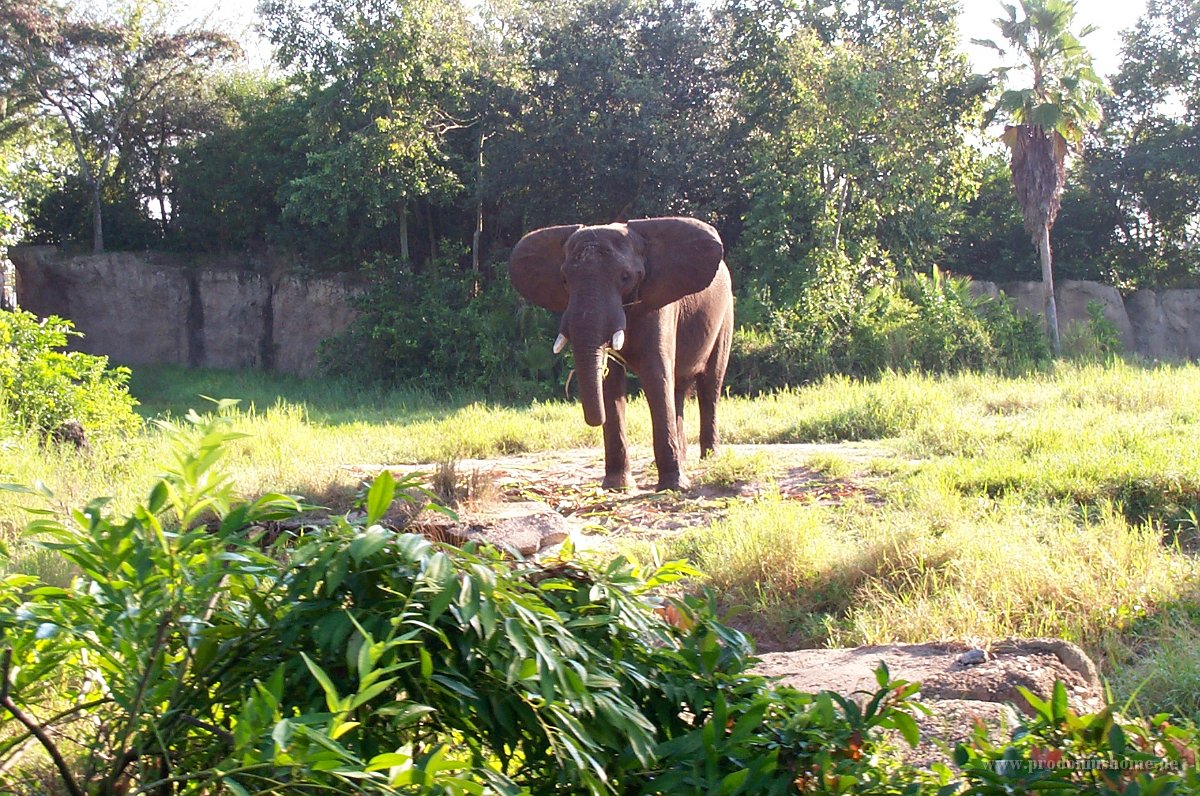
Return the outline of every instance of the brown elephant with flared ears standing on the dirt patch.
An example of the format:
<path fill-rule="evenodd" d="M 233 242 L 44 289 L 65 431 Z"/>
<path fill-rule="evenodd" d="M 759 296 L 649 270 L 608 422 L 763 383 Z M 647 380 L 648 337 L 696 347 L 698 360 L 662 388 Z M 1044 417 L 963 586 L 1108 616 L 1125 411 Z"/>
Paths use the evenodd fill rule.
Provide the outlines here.
<path fill-rule="evenodd" d="M 604 426 L 605 489 L 635 485 L 625 442 L 626 367 L 650 407 L 656 490 L 689 487 L 689 393 L 700 403 L 701 457 L 716 449 L 716 400 L 733 336 L 724 257 L 713 227 L 683 217 L 545 227 L 512 250 L 509 276 L 517 292 L 563 313 L 553 348 L 557 354 L 570 342 L 583 419 Z"/>

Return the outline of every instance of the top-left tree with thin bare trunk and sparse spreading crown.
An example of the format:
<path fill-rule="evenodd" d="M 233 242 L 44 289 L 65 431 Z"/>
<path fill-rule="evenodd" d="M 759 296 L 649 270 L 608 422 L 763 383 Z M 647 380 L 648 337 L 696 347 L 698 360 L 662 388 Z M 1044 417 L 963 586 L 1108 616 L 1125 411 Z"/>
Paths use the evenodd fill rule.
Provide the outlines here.
<path fill-rule="evenodd" d="M 24 114 L 61 120 L 86 186 L 92 250 L 104 250 L 102 191 L 133 116 L 193 70 L 232 59 L 238 47 L 206 30 L 167 32 L 150 2 L 101 16 L 54 0 L 0 0 L 0 80 Z"/>

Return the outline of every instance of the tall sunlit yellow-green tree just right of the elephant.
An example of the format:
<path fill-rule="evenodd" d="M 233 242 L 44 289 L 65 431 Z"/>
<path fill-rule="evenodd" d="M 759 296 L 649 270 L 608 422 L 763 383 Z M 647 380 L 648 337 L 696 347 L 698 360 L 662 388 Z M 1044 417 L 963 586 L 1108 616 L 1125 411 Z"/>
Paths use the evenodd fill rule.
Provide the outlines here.
<path fill-rule="evenodd" d="M 738 253 L 764 303 L 790 306 L 818 277 L 845 294 L 937 262 L 979 170 L 967 133 L 980 96 L 954 4 L 730 0 L 722 14 L 732 138 L 752 158 Z"/>

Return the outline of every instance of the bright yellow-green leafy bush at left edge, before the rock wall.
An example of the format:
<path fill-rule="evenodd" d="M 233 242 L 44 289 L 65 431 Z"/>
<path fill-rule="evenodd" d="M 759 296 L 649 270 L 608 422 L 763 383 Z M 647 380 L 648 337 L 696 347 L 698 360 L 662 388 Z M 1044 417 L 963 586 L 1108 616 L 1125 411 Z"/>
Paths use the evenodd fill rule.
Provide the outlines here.
<path fill-rule="evenodd" d="M 34 432 L 46 438 L 68 420 L 92 438 L 134 431 L 140 420 L 128 394 L 130 371 L 107 357 L 60 351 L 72 323 L 0 311 L 0 437 Z"/>

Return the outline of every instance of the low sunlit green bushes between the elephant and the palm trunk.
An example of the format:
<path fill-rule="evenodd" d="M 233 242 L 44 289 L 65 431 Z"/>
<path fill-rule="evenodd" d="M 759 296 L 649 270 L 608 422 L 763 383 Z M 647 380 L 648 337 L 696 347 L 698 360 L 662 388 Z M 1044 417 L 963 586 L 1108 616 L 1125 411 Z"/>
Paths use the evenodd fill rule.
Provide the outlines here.
<path fill-rule="evenodd" d="M 816 281 L 791 307 L 734 336 L 730 384 L 758 393 L 823 376 L 887 370 L 1020 370 L 1049 359 L 1037 321 L 970 281 L 914 274 L 866 291 Z"/>

